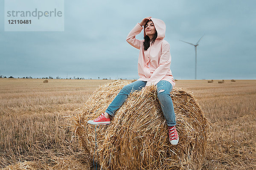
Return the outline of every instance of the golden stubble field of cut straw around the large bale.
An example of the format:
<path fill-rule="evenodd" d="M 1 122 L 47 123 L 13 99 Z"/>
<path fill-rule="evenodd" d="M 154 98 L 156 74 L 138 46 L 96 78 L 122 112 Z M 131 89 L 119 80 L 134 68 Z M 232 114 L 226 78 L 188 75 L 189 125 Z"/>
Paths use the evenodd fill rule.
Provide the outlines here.
<path fill-rule="evenodd" d="M 67 116 L 112 81 L 0 79 L 0 167 L 86 168 Z M 256 80 L 178 80 L 176 88 L 193 92 L 210 122 L 203 170 L 256 169 Z"/>

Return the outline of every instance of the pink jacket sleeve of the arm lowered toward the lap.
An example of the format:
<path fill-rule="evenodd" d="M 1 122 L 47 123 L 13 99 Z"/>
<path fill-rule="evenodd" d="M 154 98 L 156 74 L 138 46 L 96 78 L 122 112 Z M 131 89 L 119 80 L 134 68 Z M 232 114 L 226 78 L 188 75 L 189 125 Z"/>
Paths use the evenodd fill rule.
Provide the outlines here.
<path fill-rule="evenodd" d="M 149 78 L 146 86 L 157 85 L 157 83 L 166 76 L 171 66 L 171 54 L 170 45 L 164 44 L 161 47 L 161 57 L 159 61 L 159 66 L 154 71 L 154 73 Z"/>

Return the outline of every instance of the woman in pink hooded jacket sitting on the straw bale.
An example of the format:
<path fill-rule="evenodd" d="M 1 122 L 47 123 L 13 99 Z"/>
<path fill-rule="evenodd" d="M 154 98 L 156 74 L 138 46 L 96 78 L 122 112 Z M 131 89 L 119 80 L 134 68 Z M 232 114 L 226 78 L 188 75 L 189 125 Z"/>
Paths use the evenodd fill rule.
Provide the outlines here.
<path fill-rule="evenodd" d="M 144 40 L 137 40 L 135 36 L 140 34 L 143 26 Z M 169 140 L 172 145 L 178 143 L 179 137 L 175 128 L 175 112 L 170 97 L 170 91 L 172 91 L 175 81 L 170 70 L 170 45 L 166 40 L 163 40 L 165 30 L 166 26 L 162 20 L 151 17 L 144 18 L 131 30 L 126 41 L 140 50 L 138 60 L 138 74 L 140 78 L 129 85 L 125 85 L 115 99 L 113 99 L 105 113 L 102 113 L 97 119 L 89 120 L 89 124 L 110 124 L 110 116 L 114 116 L 116 110 L 121 107 L 130 93 L 134 90 L 141 90 L 145 86 L 157 85 L 157 97 L 169 127 Z"/>

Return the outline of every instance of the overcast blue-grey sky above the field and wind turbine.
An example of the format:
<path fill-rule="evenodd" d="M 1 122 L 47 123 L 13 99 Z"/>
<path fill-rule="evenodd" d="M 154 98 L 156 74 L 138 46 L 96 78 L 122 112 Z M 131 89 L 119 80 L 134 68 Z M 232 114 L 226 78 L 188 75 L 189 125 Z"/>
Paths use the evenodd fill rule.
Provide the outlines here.
<path fill-rule="evenodd" d="M 0 74 L 6 77 L 138 79 L 139 50 L 126 37 L 144 17 L 166 23 L 175 79 L 256 79 L 254 0 L 66 0 L 64 31 L 4 31 L 0 1 Z M 143 31 L 137 36 L 143 39 Z"/>

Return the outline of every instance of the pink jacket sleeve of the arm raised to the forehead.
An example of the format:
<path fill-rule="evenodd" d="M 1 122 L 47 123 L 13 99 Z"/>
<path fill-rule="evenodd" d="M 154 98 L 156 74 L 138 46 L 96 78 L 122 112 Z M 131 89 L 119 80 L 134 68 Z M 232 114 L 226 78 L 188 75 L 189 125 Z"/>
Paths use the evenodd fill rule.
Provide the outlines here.
<path fill-rule="evenodd" d="M 136 26 L 131 30 L 131 32 L 128 34 L 126 41 L 133 47 L 140 49 L 140 43 L 143 42 L 143 40 L 137 40 L 136 35 L 140 34 L 141 30 L 143 29 L 142 26 L 140 26 L 139 23 L 136 24 Z"/>

